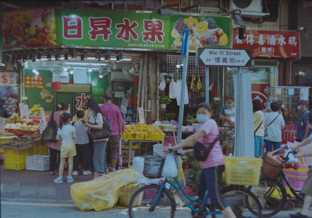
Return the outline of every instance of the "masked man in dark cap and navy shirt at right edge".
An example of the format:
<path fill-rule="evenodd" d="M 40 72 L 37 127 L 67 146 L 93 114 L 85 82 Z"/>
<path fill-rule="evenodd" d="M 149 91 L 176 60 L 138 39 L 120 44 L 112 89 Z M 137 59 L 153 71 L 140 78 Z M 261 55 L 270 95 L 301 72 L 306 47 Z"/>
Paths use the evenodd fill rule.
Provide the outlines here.
<path fill-rule="evenodd" d="M 297 122 L 297 142 L 301 142 L 305 138 L 307 138 L 312 129 L 308 126 L 308 115 L 309 110 L 307 109 L 308 103 L 304 99 L 300 99 L 298 102 L 295 103 L 297 109 L 300 111 L 300 115 Z"/>

